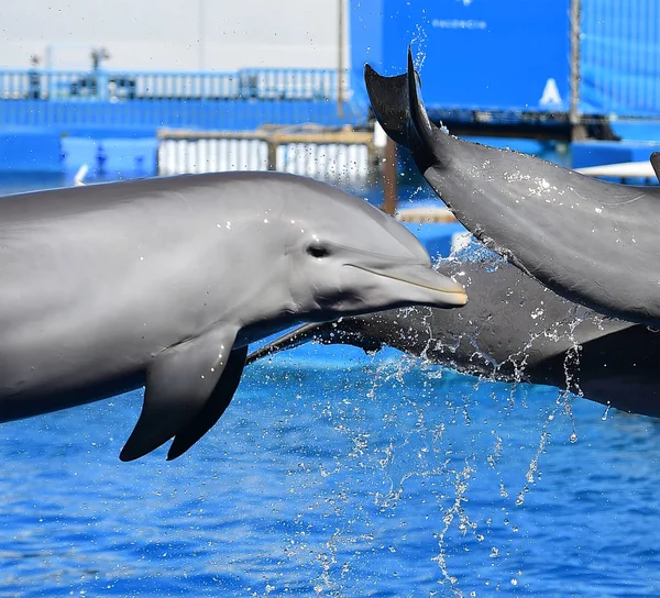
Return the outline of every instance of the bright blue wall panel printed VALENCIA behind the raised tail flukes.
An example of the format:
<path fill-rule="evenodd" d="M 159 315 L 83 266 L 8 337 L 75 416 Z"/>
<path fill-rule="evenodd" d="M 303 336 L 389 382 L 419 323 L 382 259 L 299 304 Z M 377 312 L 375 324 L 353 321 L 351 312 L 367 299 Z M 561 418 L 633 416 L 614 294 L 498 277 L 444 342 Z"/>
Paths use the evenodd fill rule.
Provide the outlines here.
<path fill-rule="evenodd" d="M 430 110 L 565 111 L 569 8 L 569 0 L 351 0 L 353 85 L 364 92 L 365 62 L 402 73 L 411 45 Z M 561 102 L 542 104 L 550 79 Z"/>

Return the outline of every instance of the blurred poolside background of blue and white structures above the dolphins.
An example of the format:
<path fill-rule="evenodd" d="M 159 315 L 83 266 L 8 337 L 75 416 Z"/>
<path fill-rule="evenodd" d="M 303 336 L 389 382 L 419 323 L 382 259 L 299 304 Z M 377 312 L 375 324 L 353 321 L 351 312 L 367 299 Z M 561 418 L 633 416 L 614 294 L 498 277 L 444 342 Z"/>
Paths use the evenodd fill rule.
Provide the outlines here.
<path fill-rule="evenodd" d="M 654 0 L 35 0 L 0 20 L 0 171 L 14 179 L 70 181 L 85 164 L 89 179 L 369 180 L 384 140 L 364 64 L 402 73 L 409 45 L 453 134 L 576 168 L 648 160 L 660 139 Z"/>

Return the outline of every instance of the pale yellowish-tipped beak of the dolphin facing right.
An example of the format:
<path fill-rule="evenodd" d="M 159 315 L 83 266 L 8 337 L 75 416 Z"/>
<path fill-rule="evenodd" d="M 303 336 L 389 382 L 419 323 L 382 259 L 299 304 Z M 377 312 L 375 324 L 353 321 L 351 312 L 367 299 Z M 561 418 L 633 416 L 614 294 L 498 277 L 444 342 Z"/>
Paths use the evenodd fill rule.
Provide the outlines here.
<path fill-rule="evenodd" d="M 439 274 L 428 266 L 402 265 L 387 266 L 387 268 L 370 268 L 366 266 L 356 266 L 354 264 L 346 264 L 346 266 L 369 272 L 370 274 L 383 278 L 397 280 L 405 285 L 430 290 L 432 294 L 429 295 L 429 300 L 424 301 L 430 306 L 459 308 L 468 302 L 468 295 L 462 285 L 454 283 L 448 276 Z"/>

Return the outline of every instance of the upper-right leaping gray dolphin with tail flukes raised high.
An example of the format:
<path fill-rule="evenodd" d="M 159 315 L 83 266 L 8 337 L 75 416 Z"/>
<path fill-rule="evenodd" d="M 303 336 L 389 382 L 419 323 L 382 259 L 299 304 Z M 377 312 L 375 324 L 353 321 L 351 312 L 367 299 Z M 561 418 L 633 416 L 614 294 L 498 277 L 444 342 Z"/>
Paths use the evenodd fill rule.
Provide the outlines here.
<path fill-rule="evenodd" d="M 367 65 L 365 81 L 385 131 L 480 241 L 572 301 L 658 325 L 659 188 L 601 181 L 449 135 L 426 113 L 410 53 L 407 75 L 382 77 Z M 660 156 L 652 164 L 658 171 Z"/>

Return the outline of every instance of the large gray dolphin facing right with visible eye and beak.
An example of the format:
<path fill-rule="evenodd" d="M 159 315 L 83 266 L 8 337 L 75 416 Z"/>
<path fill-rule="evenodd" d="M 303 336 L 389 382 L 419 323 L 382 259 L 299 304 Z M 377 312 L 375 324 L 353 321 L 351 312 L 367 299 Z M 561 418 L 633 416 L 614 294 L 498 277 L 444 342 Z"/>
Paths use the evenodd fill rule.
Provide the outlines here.
<path fill-rule="evenodd" d="M 145 386 L 121 451 L 187 451 L 248 344 L 290 325 L 455 307 L 419 241 L 365 201 L 274 173 L 134 180 L 0 199 L 0 421 Z"/>

